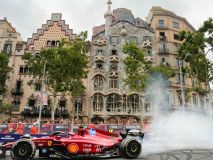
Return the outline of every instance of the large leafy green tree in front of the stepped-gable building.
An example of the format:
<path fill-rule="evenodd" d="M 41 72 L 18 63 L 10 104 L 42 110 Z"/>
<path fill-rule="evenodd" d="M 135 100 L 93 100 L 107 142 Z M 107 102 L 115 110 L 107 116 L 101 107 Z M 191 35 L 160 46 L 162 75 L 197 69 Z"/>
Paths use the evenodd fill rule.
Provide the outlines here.
<path fill-rule="evenodd" d="M 82 32 L 73 41 L 65 41 L 58 48 L 41 50 L 39 55 L 25 53 L 23 60 L 33 69 L 29 85 L 42 81 L 45 66 L 46 89 L 53 94 L 51 118 L 54 120 L 58 93 L 81 96 L 85 86 L 82 79 L 87 76 L 87 32 Z"/>

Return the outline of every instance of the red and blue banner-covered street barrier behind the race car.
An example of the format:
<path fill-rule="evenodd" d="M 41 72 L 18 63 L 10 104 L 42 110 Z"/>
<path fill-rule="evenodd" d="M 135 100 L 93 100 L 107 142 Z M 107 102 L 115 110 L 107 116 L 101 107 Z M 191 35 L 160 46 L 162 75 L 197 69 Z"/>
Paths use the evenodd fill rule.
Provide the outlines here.
<path fill-rule="evenodd" d="M 21 126 L 21 127 L 20 127 Z M 24 134 L 30 134 L 30 130 L 33 124 L 20 124 L 20 123 L 8 123 L 0 125 L 0 143 L 12 142 L 18 140 Z M 85 128 L 95 128 L 104 131 L 113 131 L 114 133 L 120 133 L 127 129 L 140 129 L 140 125 L 107 125 L 107 124 L 88 124 L 83 125 Z M 41 134 L 31 134 L 32 137 L 45 137 L 56 131 L 63 131 L 65 133 L 73 132 L 77 133 L 79 125 L 69 124 L 42 124 Z M 18 134 L 18 130 L 23 130 L 22 134 Z"/>

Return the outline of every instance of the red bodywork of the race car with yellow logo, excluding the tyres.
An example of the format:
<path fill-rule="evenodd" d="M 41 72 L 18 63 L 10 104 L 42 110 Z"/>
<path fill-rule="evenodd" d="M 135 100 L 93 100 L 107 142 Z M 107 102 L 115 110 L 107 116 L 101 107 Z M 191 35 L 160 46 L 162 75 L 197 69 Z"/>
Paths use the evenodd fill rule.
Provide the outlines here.
<path fill-rule="evenodd" d="M 2 145 L 0 149 L 2 153 L 6 150 L 11 150 L 11 152 L 25 154 L 25 150 L 27 149 L 22 147 L 23 145 L 19 145 L 17 149 L 17 145 L 19 143 L 25 144 L 25 141 L 27 141 L 27 143 L 30 143 L 35 149 L 39 149 L 40 157 L 75 159 L 75 157 L 81 156 L 99 157 L 105 156 L 106 154 L 109 154 L 110 157 L 112 157 L 120 156 L 119 147 L 123 140 L 124 139 L 119 135 L 114 133 L 90 128 L 80 128 L 78 134 L 58 132 L 44 138 L 27 139 L 26 137 L 23 137 L 16 142 Z M 17 151 L 14 151 L 15 149 Z M 11 154 L 13 159 L 23 159 L 23 157 L 16 159 L 17 156 L 15 154 L 16 153 Z M 4 155 L 1 157 L 4 157 Z M 32 157 L 34 157 L 34 155 L 32 155 Z"/>

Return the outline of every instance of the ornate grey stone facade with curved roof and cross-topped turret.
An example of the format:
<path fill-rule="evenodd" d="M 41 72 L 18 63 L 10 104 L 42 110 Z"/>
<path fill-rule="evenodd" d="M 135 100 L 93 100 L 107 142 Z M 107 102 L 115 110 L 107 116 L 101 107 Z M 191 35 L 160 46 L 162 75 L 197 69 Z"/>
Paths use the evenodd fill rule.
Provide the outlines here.
<path fill-rule="evenodd" d="M 125 43 L 134 42 L 146 49 L 146 60 L 154 62 L 154 32 L 145 21 L 125 8 L 108 10 L 105 24 L 93 28 L 89 80 L 92 122 L 136 124 L 146 118 L 142 93 L 132 93 L 124 85 L 123 52 Z M 145 114 L 144 114 L 145 113 Z"/>

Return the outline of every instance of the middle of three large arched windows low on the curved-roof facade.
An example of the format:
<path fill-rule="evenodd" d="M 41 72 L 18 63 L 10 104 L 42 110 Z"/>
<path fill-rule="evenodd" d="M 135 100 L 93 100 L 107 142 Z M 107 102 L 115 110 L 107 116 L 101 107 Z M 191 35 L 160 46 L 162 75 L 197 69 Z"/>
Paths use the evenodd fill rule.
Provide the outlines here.
<path fill-rule="evenodd" d="M 107 112 L 121 112 L 121 98 L 119 95 L 109 95 L 106 103 Z"/>

